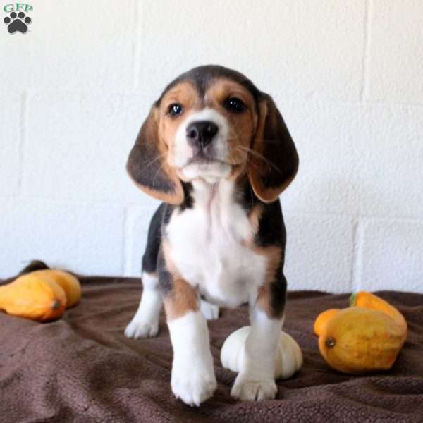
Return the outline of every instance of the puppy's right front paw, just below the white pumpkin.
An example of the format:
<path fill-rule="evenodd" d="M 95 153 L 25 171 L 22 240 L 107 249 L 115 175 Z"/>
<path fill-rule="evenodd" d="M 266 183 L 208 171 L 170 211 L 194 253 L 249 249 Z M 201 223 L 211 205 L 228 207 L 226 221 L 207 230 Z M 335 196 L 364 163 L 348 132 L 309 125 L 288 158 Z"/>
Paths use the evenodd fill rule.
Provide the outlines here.
<path fill-rule="evenodd" d="M 243 401 L 273 400 L 278 388 L 273 379 L 262 381 L 238 374 L 233 384 L 231 396 Z"/>

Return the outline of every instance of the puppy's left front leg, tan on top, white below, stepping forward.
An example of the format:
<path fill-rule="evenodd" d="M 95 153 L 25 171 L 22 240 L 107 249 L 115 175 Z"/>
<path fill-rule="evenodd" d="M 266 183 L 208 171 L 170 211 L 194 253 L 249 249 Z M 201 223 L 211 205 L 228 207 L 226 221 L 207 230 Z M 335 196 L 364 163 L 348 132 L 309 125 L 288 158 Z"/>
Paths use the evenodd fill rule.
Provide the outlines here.
<path fill-rule="evenodd" d="M 183 279 L 173 281 L 164 307 L 173 347 L 172 391 L 185 404 L 200 405 L 213 395 L 216 376 L 197 292 Z"/>

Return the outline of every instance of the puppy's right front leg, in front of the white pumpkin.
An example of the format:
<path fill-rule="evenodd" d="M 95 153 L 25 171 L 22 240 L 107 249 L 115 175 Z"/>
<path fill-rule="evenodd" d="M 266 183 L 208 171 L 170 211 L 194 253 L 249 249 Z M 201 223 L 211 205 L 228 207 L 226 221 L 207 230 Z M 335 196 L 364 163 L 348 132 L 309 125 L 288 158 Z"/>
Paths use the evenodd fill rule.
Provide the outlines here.
<path fill-rule="evenodd" d="M 285 283 L 285 281 L 283 281 Z M 270 289 L 259 293 L 250 312 L 251 328 L 245 341 L 243 367 L 235 379 L 231 396 L 240 400 L 269 400 L 276 396 L 274 364 L 283 325 L 283 303 L 275 312 Z M 273 304 L 272 304 L 273 303 Z"/>

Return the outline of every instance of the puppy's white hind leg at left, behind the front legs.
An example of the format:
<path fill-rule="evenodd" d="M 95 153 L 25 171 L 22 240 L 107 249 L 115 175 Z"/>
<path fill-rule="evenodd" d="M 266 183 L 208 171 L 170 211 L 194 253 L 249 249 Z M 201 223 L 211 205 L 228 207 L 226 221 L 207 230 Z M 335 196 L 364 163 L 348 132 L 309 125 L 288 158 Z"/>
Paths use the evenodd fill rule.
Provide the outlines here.
<path fill-rule="evenodd" d="M 163 300 L 158 289 L 157 274 L 142 273 L 143 291 L 135 316 L 126 326 L 127 338 L 153 338 L 159 333 L 159 316 Z"/>

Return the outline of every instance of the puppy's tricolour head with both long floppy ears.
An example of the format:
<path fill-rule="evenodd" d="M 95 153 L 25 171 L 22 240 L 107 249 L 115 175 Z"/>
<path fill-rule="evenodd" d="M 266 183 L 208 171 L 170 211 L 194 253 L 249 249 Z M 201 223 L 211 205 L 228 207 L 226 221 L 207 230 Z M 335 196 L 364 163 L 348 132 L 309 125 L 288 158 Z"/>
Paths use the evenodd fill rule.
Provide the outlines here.
<path fill-rule="evenodd" d="M 170 204 L 183 202 L 181 181 L 244 173 L 257 197 L 272 202 L 295 177 L 298 154 L 268 94 L 241 73 L 200 66 L 153 104 L 127 168 L 142 190 Z"/>

